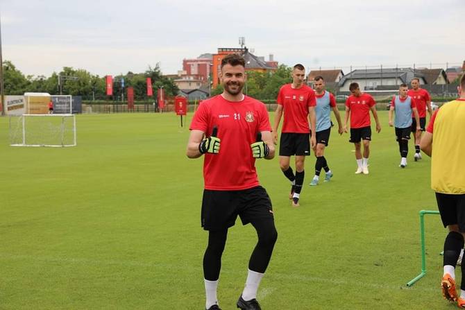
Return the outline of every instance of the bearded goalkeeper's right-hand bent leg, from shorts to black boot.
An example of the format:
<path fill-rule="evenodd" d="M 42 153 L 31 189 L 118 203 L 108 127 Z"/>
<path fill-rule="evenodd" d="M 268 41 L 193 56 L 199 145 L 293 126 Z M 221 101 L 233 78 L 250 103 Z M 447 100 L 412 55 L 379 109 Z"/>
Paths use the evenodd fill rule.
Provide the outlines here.
<path fill-rule="evenodd" d="M 248 275 L 244 291 L 237 301 L 240 309 L 260 309 L 257 290 L 262 277 L 267 270 L 273 248 L 278 238 L 274 225 L 273 209 L 267 191 L 255 187 L 244 191 L 247 195 L 244 209 L 239 213 L 242 223 L 251 223 L 257 232 L 257 244 L 248 262 Z"/>

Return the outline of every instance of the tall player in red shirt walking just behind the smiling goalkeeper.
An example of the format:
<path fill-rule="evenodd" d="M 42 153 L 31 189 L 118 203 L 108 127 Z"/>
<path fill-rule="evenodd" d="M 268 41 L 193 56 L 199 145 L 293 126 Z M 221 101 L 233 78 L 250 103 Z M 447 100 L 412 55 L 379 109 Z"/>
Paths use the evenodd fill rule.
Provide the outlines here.
<path fill-rule="evenodd" d="M 279 148 L 279 165 L 282 173 L 291 181 L 292 205 L 298 207 L 298 199 L 301 195 L 303 179 L 305 175 L 305 156 L 310 155 L 310 147 L 316 146 L 315 110 L 316 99 L 312 88 L 304 84 L 305 68 L 302 64 L 296 64 L 292 70 L 292 83 L 281 87 L 278 93 L 274 126 L 273 141 L 278 144 L 278 127 L 284 112 L 284 121 L 281 128 L 281 142 Z M 308 117 L 312 126 L 310 127 Z M 291 155 L 296 155 L 296 175 L 289 163 Z"/>

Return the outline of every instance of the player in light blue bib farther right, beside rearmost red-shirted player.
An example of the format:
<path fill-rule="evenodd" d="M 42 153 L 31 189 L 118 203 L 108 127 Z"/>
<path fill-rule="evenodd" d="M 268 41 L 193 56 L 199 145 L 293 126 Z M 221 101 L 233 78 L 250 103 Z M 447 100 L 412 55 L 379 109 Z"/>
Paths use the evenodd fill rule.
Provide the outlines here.
<path fill-rule="evenodd" d="M 396 141 L 399 144 L 400 168 L 407 166 L 407 154 L 409 153 L 409 139 L 412 130 L 412 114 L 416 121 L 416 132 L 421 130 L 418 121 L 418 111 L 412 97 L 407 96 L 407 84 L 400 84 L 398 96 L 394 96 L 389 108 L 389 126 L 396 128 Z M 392 121 L 393 112 L 396 114 L 396 121 Z"/>

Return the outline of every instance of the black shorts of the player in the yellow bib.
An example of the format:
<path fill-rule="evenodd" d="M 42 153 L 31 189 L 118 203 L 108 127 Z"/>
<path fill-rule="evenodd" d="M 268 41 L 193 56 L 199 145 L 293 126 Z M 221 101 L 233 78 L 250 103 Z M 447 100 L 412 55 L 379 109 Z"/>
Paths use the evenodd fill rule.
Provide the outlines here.
<path fill-rule="evenodd" d="M 458 224 L 460 232 L 465 232 L 465 193 L 436 193 L 436 201 L 444 227 Z"/>

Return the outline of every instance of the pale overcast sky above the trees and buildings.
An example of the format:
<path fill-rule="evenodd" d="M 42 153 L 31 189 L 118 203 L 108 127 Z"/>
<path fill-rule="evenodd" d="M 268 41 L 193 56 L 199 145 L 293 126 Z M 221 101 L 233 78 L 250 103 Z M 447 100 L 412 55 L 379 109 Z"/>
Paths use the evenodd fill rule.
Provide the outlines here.
<path fill-rule="evenodd" d="M 246 46 L 307 69 L 446 67 L 465 60 L 465 0 L 0 0 L 3 60 L 24 74 L 164 74 Z"/>

